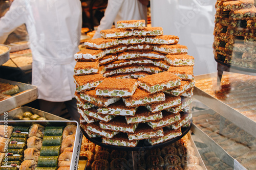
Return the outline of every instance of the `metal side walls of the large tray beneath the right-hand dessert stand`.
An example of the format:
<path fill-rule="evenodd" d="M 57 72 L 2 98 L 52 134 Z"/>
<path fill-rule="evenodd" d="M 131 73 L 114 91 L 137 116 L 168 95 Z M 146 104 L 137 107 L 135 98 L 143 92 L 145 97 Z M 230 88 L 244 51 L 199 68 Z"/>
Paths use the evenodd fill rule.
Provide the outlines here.
<path fill-rule="evenodd" d="M 195 76 L 195 80 L 198 81 L 201 79 L 207 79 L 212 77 L 216 77 L 217 79 L 217 72 L 212 74 Z M 231 108 L 230 106 L 219 101 L 213 96 L 207 94 L 206 92 L 197 88 L 196 86 L 194 87 L 194 98 L 202 102 L 212 110 L 215 110 L 217 113 L 219 113 L 226 119 L 230 120 L 230 122 L 242 128 L 252 136 L 256 137 L 256 131 L 255 131 L 256 122 L 246 117 L 245 115 L 241 114 L 239 111 Z"/>

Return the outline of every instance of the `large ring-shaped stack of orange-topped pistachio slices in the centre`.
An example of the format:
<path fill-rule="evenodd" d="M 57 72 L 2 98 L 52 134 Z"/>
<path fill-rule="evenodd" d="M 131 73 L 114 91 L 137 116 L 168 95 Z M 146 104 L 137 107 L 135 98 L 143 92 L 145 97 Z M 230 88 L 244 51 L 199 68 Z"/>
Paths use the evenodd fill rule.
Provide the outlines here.
<path fill-rule="evenodd" d="M 194 58 L 179 37 L 145 27 L 144 20 L 117 27 L 74 55 L 81 127 L 102 143 L 125 147 L 182 135 L 191 120 Z"/>

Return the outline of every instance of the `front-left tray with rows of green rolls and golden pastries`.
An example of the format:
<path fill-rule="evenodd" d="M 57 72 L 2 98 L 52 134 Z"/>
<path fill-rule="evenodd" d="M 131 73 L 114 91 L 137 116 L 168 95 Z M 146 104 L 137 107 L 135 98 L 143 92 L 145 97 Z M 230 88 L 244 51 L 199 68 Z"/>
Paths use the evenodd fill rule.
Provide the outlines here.
<path fill-rule="evenodd" d="M 82 133 L 76 121 L 0 122 L 0 169 L 77 169 Z"/>

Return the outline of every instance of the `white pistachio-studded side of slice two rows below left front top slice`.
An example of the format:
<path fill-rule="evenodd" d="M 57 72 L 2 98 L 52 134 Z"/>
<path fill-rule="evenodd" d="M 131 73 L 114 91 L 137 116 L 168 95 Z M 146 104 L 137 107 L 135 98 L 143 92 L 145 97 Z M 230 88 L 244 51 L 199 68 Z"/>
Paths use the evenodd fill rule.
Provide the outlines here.
<path fill-rule="evenodd" d="M 130 109 L 114 109 L 114 108 L 98 108 L 98 112 L 102 114 L 121 115 L 121 116 L 134 116 L 138 107 Z"/>

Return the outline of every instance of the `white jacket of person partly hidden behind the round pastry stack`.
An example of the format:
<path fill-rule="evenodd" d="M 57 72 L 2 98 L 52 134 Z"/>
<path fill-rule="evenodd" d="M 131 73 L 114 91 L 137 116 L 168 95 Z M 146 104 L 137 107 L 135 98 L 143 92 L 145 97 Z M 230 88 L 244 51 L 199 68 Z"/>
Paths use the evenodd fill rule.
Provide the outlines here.
<path fill-rule="evenodd" d="M 146 6 L 138 0 L 109 0 L 93 39 L 101 37 L 99 33 L 101 30 L 111 29 L 113 22 L 116 26 L 116 22 L 119 20 L 132 19 L 144 19 L 147 22 Z"/>

